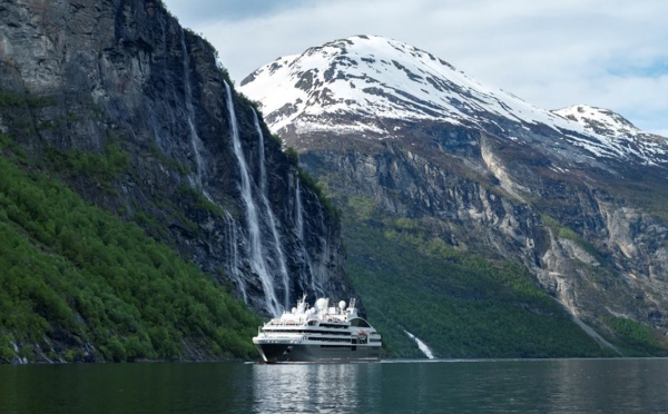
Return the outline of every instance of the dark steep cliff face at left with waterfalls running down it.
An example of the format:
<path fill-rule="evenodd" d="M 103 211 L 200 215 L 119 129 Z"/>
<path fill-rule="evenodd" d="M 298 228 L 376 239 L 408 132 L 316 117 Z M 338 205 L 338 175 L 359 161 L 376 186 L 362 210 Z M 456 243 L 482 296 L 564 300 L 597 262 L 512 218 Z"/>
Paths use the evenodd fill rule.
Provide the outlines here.
<path fill-rule="evenodd" d="M 33 102 L 2 111 L 3 134 L 48 166 L 110 146 L 128 155 L 112 179 L 61 169 L 87 199 L 234 284 L 259 313 L 302 293 L 351 294 L 336 219 L 226 88 L 215 50 L 159 0 L 3 2 L 0 33 L 0 90 Z"/>

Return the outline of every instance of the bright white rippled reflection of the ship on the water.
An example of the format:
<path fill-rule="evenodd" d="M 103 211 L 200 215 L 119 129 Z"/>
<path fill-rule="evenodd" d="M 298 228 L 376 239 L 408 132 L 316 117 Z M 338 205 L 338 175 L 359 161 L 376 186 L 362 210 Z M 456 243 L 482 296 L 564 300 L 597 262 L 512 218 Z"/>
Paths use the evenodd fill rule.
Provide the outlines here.
<path fill-rule="evenodd" d="M 353 412 L 360 408 L 358 384 L 371 386 L 379 369 L 373 363 L 254 365 L 253 412 Z"/>

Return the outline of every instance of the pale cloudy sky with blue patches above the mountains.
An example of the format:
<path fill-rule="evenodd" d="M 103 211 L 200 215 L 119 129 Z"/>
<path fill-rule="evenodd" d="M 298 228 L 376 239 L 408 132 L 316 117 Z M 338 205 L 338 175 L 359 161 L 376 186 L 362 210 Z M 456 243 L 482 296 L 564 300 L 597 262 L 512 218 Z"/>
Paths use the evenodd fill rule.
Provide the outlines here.
<path fill-rule="evenodd" d="M 353 34 L 400 40 L 544 109 L 612 109 L 668 137 L 666 0 L 164 0 L 239 83 Z"/>

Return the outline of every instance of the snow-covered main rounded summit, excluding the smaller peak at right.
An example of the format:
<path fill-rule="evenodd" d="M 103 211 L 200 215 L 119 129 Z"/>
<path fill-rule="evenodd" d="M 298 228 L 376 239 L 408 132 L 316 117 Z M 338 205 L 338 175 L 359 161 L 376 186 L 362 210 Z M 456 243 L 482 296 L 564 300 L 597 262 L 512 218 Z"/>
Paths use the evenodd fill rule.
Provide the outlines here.
<path fill-rule="evenodd" d="M 246 78 L 242 88 L 263 102 L 277 129 L 299 118 L 303 128 L 342 129 L 308 122 L 310 116 L 323 114 L 470 124 L 484 122 L 478 115 L 490 112 L 529 122 L 568 124 L 483 87 L 431 53 L 381 37 L 352 37 L 279 58 Z M 343 128 L 382 131 L 367 124 Z"/>

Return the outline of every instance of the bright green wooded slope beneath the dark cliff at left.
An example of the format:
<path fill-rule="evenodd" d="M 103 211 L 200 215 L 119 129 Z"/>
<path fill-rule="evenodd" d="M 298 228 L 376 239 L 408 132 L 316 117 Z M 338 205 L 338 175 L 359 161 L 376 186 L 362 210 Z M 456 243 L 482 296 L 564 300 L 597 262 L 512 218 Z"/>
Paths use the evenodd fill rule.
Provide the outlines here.
<path fill-rule="evenodd" d="M 259 321 L 175 252 L 4 157 L 0 177 L 0 362 L 255 356 Z"/>

